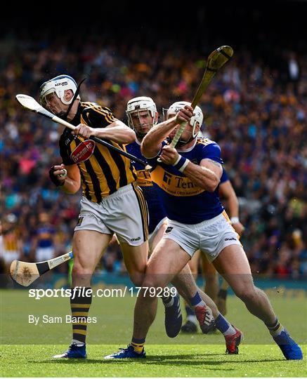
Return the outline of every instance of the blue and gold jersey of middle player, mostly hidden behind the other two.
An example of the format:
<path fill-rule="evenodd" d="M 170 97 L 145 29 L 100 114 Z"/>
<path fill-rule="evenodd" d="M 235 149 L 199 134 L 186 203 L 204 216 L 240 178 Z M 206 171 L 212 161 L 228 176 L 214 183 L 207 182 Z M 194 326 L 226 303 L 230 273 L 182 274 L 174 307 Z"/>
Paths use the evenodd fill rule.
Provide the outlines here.
<path fill-rule="evenodd" d="M 134 157 L 138 157 L 145 161 L 141 153 L 141 145 L 138 140 L 135 142 L 126 145 L 126 151 L 130 154 L 133 154 Z M 137 179 L 136 182 L 143 189 L 143 194 L 148 204 L 148 213 L 149 213 L 149 227 L 148 232 L 152 233 L 155 230 L 155 227 L 159 224 L 161 220 L 166 218 L 166 212 L 162 204 L 162 200 L 159 198 L 157 185 L 152 182 L 150 172 L 144 170 L 144 167 L 138 162 L 132 161 L 134 168 L 136 169 Z"/>

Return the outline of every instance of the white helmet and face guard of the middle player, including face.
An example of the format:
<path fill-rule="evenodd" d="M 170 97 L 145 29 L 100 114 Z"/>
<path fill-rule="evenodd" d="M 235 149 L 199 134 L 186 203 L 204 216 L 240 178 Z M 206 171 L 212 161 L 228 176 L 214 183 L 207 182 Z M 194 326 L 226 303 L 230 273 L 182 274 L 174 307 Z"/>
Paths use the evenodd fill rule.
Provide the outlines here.
<path fill-rule="evenodd" d="M 152 117 L 152 122 L 148 124 L 141 123 L 141 117 L 146 115 Z M 148 133 L 142 132 L 143 126 L 149 126 L 149 130 L 152 126 L 156 125 L 158 122 L 158 114 L 157 107 L 152 98 L 147 98 L 145 96 L 141 96 L 139 98 L 133 98 L 129 100 L 126 107 L 126 116 L 128 118 L 128 125 L 133 131 L 136 132 L 136 136 L 138 138 L 144 138 Z M 137 120 L 137 121 L 136 121 Z M 136 124 L 138 122 L 138 124 Z"/>

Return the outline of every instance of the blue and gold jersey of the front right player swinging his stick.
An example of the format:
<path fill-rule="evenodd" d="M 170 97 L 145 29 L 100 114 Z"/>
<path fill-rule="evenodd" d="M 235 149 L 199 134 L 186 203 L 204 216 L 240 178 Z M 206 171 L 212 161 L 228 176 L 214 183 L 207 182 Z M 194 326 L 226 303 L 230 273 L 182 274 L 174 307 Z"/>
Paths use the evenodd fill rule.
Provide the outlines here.
<path fill-rule="evenodd" d="M 162 142 L 162 145 L 166 143 Z M 220 147 L 207 138 L 197 138 L 194 147 L 178 152 L 193 164 L 199 165 L 206 158 L 223 164 Z M 148 163 L 153 168 L 151 177 L 159 188 L 159 196 L 169 219 L 184 224 L 198 224 L 223 212 L 218 187 L 214 192 L 207 192 L 174 166 L 158 163 L 157 157 L 148 159 Z"/>

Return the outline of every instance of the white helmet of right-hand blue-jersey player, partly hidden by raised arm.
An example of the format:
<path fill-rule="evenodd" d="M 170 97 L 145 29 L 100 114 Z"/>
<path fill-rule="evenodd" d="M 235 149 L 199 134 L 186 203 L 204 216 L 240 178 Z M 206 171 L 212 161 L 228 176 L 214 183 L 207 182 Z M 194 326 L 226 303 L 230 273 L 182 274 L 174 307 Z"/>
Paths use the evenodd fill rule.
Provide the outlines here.
<path fill-rule="evenodd" d="M 179 110 L 181 108 L 185 107 L 185 105 L 191 105 L 191 103 L 186 102 L 186 101 L 177 101 L 177 102 L 174 102 L 174 104 L 172 104 L 169 107 L 169 109 L 163 108 L 162 111 L 163 111 L 164 121 L 166 121 L 170 117 L 174 117 L 179 112 Z M 202 114 L 202 109 L 200 109 L 200 107 L 198 107 L 198 105 L 196 105 L 196 107 L 194 108 L 194 113 L 195 113 L 195 116 L 191 117 L 191 119 L 190 119 L 190 126 L 192 126 L 192 132 L 190 132 L 191 137 L 189 138 L 188 141 L 179 140 L 177 143 L 178 147 L 181 147 L 181 146 L 187 144 L 188 142 L 194 140 L 194 138 L 197 137 L 197 134 L 200 131 L 200 129 L 199 129 L 199 131 L 196 132 L 196 127 L 197 127 L 197 125 L 199 125 L 200 127 L 202 126 L 202 121 L 204 120 L 204 115 Z"/>

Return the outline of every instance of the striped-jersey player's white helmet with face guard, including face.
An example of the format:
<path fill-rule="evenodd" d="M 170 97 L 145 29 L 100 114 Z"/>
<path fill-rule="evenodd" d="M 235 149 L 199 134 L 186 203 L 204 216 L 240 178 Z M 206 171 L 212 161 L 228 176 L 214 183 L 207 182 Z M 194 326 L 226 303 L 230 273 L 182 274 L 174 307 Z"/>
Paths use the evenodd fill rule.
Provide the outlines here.
<path fill-rule="evenodd" d="M 60 109 L 62 109 L 60 102 L 65 105 L 70 105 L 74 98 L 72 97 L 70 100 L 65 100 L 66 90 L 71 90 L 73 94 L 77 92 L 77 83 L 69 75 L 60 75 L 51 80 L 45 81 L 45 83 L 41 85 L 41 88 L 39 88 L 39 100 L 41 105 L 51 109 L 51 112 L 52 104 L 50 99 L 52 99 L 53 105 L 57 102 L 57 99 L 60 100 L 58 101 Z M 50 95 L 53 96 L 51 97 Z M 80 99 L 79 95 L 77 95 L 77 99 Z"/>

